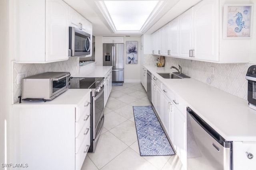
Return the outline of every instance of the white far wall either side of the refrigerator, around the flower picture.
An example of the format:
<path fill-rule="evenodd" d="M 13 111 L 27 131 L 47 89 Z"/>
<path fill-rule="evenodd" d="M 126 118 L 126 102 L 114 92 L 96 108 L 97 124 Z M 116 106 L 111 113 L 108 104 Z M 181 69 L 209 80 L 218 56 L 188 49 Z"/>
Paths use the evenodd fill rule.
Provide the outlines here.
<path fill-rule="evenodd" d="M 124 51 L 124 82 L 140 82 L 140 36 L 124 37 L 124 49 L 126 41 L 138 41 L 138 64 L 126 64 L 126 52 Z M 95 61 L 96 66 L 103 65 L 102 37 L 95 37 Z"/>

